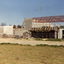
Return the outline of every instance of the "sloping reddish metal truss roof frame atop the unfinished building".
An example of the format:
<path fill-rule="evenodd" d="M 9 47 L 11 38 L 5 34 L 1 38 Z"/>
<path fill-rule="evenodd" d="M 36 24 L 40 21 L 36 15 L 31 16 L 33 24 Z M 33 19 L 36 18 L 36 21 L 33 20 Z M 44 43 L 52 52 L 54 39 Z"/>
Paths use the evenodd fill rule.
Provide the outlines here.
<path fill-rule="evenodd" d="M 35 17 L 33 19 L 38 20 L 38 22 L 64 22 L 64 15 L 48 16 L 48 17 Z"/>

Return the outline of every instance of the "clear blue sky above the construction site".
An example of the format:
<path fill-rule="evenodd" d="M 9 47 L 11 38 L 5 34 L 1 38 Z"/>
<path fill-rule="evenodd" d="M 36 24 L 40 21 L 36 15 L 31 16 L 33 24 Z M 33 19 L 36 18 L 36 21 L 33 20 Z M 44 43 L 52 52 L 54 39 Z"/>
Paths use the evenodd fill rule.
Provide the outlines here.
<path fill-rule="evenodd" d="M 25 18 L 64 15 L 64 0 L 0 0 L 0 23 L 22 25 Z"/>

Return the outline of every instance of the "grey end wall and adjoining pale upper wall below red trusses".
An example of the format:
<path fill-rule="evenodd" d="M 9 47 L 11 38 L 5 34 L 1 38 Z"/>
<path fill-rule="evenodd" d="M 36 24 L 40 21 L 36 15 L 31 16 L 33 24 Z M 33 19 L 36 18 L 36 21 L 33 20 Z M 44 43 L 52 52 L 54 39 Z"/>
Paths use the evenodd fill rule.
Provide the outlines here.
<path fill-rule="evenodd" d="M 23 24 L 24 24 L 25 30 L 29 30 L 30 27 L 42 27 L 42 26 L 51 26 L 51 27 L 53 27 L 53 24 L 51 24 L 51 23 L 34 22 L 33 18 L 25 18 Z"/>

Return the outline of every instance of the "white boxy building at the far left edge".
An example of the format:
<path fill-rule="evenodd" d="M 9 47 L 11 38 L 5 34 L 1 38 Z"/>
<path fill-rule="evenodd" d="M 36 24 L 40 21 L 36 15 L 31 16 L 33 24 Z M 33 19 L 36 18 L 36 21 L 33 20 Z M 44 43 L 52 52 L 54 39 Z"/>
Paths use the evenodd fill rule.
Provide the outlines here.
<path fill-rule="evenodd" d="M 12 37 L 13 26 L 0 26 L 0 37 Z"/>

